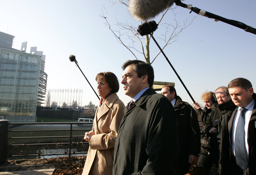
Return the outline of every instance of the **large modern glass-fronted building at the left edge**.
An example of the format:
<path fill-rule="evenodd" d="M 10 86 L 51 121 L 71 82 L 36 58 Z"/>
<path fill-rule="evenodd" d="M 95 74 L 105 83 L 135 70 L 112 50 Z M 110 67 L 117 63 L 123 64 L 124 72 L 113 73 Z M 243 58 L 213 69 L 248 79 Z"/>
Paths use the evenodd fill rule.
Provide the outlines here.
<path fill-rule="evenodd" d="M 44 72 L 45 55 L 27 42 L 21 50 L 13 49 L 12 35 L 0 33 L 0 116 L 9 122 L 35 122 L 36 106 L 44 104 L 47 74 Z M 8 38 L 9 36 L 9 38 Z M 8 41 L 8 42 L 7 42 Z M 12 46 L 12 43 L 11 43 Z"/>

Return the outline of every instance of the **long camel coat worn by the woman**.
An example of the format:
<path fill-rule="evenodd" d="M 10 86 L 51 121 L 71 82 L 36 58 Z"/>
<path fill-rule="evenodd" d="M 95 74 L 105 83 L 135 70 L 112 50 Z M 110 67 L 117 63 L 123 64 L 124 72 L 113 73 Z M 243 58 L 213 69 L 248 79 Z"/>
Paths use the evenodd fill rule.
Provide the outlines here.
<path fill-rule="evenodd" d="M 124 103 L 117 94 L 108 96 L 95 113 L 84 170 L 82 175 L 112 175 L 114 145 L 121 119 L 124 116 Z"/>

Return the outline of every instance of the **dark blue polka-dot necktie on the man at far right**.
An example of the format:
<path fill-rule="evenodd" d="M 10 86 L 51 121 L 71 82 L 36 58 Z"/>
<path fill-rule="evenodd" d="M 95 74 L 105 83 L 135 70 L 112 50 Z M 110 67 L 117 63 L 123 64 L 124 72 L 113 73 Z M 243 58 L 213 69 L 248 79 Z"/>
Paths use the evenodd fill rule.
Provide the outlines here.
<path fill-rule="evenodd" d="M 248 161 L 245 153 L 245 142 L 244 142 L 244 125 L 245 125 L 245 111 L 247 109 L 240 109 L 240 116 L 235 130 L 235 160 L 241 169 L 246 170 L 248 167 Z"/>

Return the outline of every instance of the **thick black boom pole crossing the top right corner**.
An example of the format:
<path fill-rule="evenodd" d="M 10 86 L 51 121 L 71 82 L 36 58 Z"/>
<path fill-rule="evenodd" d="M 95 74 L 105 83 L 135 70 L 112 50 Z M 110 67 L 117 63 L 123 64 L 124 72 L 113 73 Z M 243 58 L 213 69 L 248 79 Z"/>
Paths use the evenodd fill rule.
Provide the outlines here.
<path fill-rule="evenodd" d="M 232 19 L 227 19 L 227 18 L 223 18 L 221 16 L 218 16 L 218 15 L 215 15 L 213 13 L 210 13 L 210 12 L 207 12 L 207 11 L 204 11 L 204 10 L 201 10 L 197 7 L 192 7 L 192 5 L 187 5 L 187 4 L 184 4 L 182 3 L 180 0 L 176 0 L 174 1 L 176 5 L 178 6 L 181 6 L 183 8 L 186 8 L 186 9 L 189 9 L 191 10 L 191 12 L 195 12 L 199 15 L 202 15 L 202 16 L 205 16 L 205 17 L 208 17 L 208 18 L 213 18 L 215 20 L 218 20 L 218 21 L 222 21 L 224 23 L 227 23 L 227 24 L 230 24 L 232 26 L 235 26 L 235 27 L 238 27 L 238 28 L 241 28 L 243 29 L 244 31 L 247 31 L 247 32 L 250 32 L 250 33 L 253 33 L 256 35 L 256 29 L 251 27 L 251 26 L 248 26 L 242 22 L 239 22 L 239 21 L 235 21 L 235 20 L 232 20 Z"/>

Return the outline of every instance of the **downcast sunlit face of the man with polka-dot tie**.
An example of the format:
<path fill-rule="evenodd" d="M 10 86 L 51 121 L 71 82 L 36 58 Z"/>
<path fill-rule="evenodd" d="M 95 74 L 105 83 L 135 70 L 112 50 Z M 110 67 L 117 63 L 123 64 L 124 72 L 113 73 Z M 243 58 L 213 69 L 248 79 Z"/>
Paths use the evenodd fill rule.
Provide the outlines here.
<path fill-rule="evenodd" d="M 253 88 L 249 88 L 247 91 L 241 87 L 234 87 L 228 89 L 230 97 L 236 106 L 241 108 L 247 106 L 253 100 Z"/>

